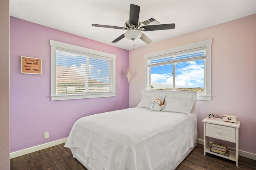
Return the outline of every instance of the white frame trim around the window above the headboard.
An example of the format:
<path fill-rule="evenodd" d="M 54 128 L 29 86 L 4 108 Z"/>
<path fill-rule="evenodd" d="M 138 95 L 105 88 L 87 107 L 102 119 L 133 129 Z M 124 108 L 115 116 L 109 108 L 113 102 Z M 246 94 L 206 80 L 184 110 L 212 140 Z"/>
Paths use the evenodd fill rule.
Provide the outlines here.
<path fill-rule="evenodd" d="M 156 51 L 154 53 L 149 53 L 144 55 L 144 66 L 145 66 L 145 90 L 151 90 L 151 76 L 150 67 L 148 67 L 148 60 L 150 58 L 164 57 L 171 53 L 178 53 L 181 51 L 186 51 L 190 49 L 196 49 L 200 47 L 206 48 L 206 59 L 204 61 L 204 92 L 197 93 L 197 100 L 212 100 L 212 68 L 211 68 L 211 45 L 212 39 L 191 43 L 187 45 L 182 45 L 179 47 L 174 47 L 162 51 Z"/>

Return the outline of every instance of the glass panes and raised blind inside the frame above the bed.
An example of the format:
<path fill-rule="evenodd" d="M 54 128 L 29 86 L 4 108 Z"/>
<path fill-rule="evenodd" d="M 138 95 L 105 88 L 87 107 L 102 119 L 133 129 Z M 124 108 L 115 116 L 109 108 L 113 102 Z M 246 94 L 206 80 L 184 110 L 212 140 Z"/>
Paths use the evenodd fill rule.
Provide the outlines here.
<path fill-rule="evenodd" d="M 151 89 L 204 92 L 205 53 L 201 47 L 149 58 Z"/>

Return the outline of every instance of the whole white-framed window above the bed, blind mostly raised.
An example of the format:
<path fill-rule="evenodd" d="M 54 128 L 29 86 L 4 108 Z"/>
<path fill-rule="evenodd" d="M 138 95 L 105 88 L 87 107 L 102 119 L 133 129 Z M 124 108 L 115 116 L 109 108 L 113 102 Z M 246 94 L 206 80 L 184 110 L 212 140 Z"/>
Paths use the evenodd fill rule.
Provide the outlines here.
<path fill-rule="evenodd" d="M 146 90 L 196 91 L 211 100 L 212 39 L 146 54 Z"/>

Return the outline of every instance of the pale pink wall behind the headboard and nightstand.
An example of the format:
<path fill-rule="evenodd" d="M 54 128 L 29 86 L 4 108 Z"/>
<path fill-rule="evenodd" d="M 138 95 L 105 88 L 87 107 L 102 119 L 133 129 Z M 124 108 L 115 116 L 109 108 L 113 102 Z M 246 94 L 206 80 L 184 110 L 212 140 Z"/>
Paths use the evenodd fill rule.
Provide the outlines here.
<path fill-rule="evenodd" d="M 234 114 L 241 121 L 240 150 L 256 154 L 256 14 L 130 51 L 129 106 L 138 104 L 144 89 L 144 54 L 206 39 L 213 39 L 213 97 L 197 102 L 198 138 L 208 113 Z"/>

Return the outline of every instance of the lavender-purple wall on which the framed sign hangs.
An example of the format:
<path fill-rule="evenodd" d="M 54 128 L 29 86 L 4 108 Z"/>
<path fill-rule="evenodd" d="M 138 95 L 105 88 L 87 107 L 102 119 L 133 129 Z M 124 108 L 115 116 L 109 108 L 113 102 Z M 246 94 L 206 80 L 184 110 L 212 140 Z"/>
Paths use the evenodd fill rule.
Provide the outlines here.
<path fill-rule="evenodd" d="M 50 39 L 115 54 L 116 97 L 51 101 Z M 124 49 L 10 17 L 10 152 L 66 138 L 80 117 L 128 108 L 128 54 Z M 41 58 L 42 75 L 21 74 L 21 55 Z M 50 138 L 44 139 L 44 132 Z"/>

